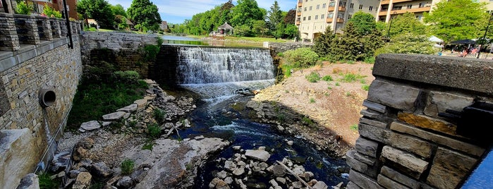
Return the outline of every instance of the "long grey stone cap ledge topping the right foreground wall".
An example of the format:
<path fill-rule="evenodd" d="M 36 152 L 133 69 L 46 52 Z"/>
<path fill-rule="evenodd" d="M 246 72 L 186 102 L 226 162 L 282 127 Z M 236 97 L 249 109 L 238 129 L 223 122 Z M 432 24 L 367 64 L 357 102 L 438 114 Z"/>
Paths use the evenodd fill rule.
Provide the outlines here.
<path fill-rule="evenodd" d="M 373 75 L 493 94 L 493 61 L 486 59 L 380 54 Z"/>

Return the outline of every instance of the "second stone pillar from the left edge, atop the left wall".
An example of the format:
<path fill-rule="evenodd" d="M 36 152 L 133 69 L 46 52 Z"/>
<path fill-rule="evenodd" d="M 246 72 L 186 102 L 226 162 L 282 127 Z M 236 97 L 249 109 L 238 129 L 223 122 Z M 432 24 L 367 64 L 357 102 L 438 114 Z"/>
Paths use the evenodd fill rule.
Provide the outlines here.
<path fill-rule="evenodd" d="M 13 18 L 16 22 L 19 43 L 38 45 L 40 42 L 35 16 L 16 14 Z"/>

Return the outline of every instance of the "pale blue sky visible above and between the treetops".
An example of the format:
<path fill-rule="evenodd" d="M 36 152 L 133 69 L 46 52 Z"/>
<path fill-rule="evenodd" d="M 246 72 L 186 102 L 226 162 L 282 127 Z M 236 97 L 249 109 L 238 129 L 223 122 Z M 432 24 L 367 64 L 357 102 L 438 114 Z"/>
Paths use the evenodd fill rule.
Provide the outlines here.
<path fill-rule="evenodd" d="M 193 15 L 209 11 L 220 4 L 226 3 L 228 0 L 178 0 L 178 1 L 157 1 L 151 0 L 153 4 L 159 8 L 159 14 L 163 21 L 168 23 L 183 23 L 185 19 L 191 19 Z M 123 8 L 130 7 L 132 0 L 108 0 L 109 4 L 121 4 Z M 277 3 L 281 6 L 282 11 L 289 11 L 291 8 L 296 8 L 297 0 L 278 0 Z M 233 1 L 236 5 L 236 0 Z M 260 8 L 265 8 L 269 11 L 270 6 L 274 4 L 274 0 L 257 0 Z"/>

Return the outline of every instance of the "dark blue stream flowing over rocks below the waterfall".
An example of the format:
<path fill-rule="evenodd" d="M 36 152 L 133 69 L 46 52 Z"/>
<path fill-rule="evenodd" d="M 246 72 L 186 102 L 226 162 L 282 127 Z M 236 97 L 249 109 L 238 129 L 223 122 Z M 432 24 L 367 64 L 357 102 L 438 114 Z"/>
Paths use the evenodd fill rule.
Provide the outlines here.
<path fill-rule="evenodd" d="M 192 128 L 180 130 L 179 136 L 173 138 L 194 138 L 197 135 L 205 137 L 223 138 L 229 140 L 231 145 L 216 154 L 202 166 L 198 172 L 193 188 L 209 188 L 209 183 L 222 171 L 224 164 L 214 161 L 224 158 L 230 159 L 235 152 L 233 146 L 241 146 L 244 150 L 254 150 L 258 147 L 266 147 L 271 154 L 267 164 L 272 165 L 276 160 L 287 158 L 293 163 L 302 165 L 306 171 L 314 173 L 317 181 L 324 181 L 327 185 L 337 185 L 348 182 L 348 170 L 345 159 L 330 157 L 329 154 L 316 150 L 308 141 L 298 135 L 284 135 L 279 133 L 272 125 L 252 122 L 248 115 L 231 108 L 231 104 L 246 103 L 252 96 L 235 94 L 235 90 L 249 88 L 261 90 L 272 85 L 274 80 L 257 80 L 234 83 L 210 83 L 200 85 L 182 85 L 187 90 L 200 94 L 202 99 L 197 102 L 197 109 L 191 112 L 189 119 L 193 123 Z M 288 145 L 287 141 L 293 141 Z M 272 178 L 252 177 L 248 181 L 269 185 Z"/>

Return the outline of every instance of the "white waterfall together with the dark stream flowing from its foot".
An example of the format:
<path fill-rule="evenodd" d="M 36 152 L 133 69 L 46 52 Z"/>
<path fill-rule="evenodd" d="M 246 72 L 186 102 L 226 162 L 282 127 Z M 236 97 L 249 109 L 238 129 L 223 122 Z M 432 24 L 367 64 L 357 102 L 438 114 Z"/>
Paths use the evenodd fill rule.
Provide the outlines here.
<path fill-rule="evenodd" d="M 305 159 L 303 166 L 315 173 L 319 181 L 327 185 L 347 182 L 347 175 L 336 173 L 336 169 L 347 167 L 344 161 L 315 150 L 303 138 L 282 135 L 267 124 L 248 121 L 241 114 L 236 118 L 225 116 L 232 102 L 246 102 L 250 99 L 236 94 L 236 91 L 262 90 L 274 85 L 274 64 L 268 49 L 177 48 L 178 85 L 200 94 L 203 102 L 190 114 L 189 119 L 194 126 L 179 131 L 181 138 L 193 138 L 196 135 L 225 138 L 232 145 L 216 158 L 226 159 L 233 157 L 232 146 L 238 145 L 243 149 L 264 146 L 273 153 L 267 162 L 269 164 L 284 157 Z M 178 135 L 172 137 L 178 138 Z M 294 145 L 286 145 L 286 140 L 295 141 Z M 209 182 L 221 166 L 217 161 L 207 162 L 200 169 L 194 188 L 209 188 Z M 269 178 L 252 181 L 268 183 Z"/>

